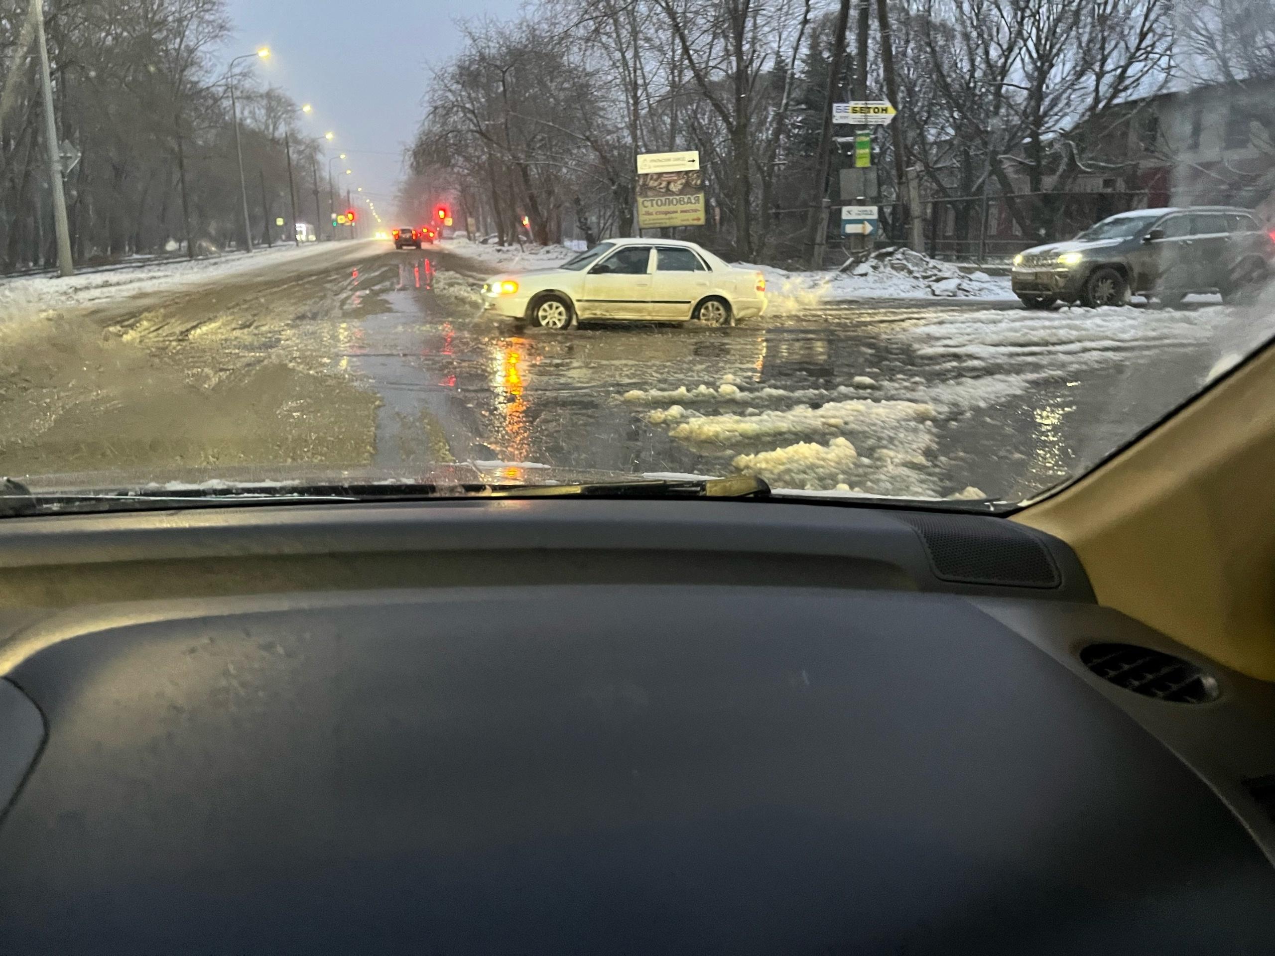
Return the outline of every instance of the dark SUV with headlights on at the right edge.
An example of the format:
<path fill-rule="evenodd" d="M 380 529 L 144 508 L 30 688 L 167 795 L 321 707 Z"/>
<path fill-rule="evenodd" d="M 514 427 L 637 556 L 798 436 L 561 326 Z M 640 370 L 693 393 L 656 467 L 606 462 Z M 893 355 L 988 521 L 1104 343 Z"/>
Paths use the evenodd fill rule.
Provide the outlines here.
<path fill-rule="evenodd" d="M 1247 209 L 1135 209 L 1089 227 L 1070 242 L 1014 257 L 1014 294 L 1029 308 L 1054 302 L 1113 306 L 1131 294 L 1176 306 L 1193 292 L 1223 300 L 1251 292 L 1275 273 L 1275 235 Z"/>

